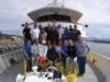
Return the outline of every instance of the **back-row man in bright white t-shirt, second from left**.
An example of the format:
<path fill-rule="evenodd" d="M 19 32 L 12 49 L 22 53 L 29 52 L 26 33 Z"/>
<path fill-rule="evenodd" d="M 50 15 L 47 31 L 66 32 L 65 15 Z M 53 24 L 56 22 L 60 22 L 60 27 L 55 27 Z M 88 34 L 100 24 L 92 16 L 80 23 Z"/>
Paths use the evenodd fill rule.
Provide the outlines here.
<path fill-rule="evenodd" d="M 40 33 L 41 32 L 40 32 L 38 26 L 34 23 L 34 28 L 31 30 L 32 39 L 33 40 L 38 39 Z"/>

